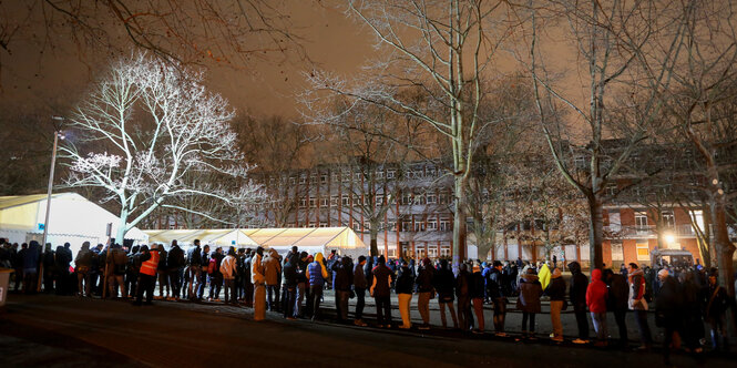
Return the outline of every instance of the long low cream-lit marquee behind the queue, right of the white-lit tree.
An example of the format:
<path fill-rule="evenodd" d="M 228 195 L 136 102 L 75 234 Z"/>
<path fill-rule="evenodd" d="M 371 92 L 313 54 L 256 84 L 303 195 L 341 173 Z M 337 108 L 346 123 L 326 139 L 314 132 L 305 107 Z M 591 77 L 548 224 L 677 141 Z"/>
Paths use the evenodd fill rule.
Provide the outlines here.
<path fill-rule="evenodd" d="M 368 255 L 368 247 L 350 227 L 294 227 L 294 228 L 236 228 L 236 229 L 171 229 L 144 231 L 151 243 L 170 245 L 177 241 L 181 246 L 191 246 L 195 239 L 202 245 L 236 246 L 276 249 L 286 254 L 291 246 L 310 254 L 324 254 L 336 249 L 354 258 Z"/>

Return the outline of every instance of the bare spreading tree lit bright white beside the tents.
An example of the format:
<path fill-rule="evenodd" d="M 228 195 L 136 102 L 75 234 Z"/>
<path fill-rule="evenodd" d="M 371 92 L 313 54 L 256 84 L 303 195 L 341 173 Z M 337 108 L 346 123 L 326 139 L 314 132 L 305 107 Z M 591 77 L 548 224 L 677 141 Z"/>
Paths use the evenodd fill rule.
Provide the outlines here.
<path fill-rule="evenodd" d="M 101 188 L 104 201 L 120 205 L 117 239 L 160 206 L 198 209 L 174 204 L 174 197 L 263 201 L 228 125 L 234 112 L 202 83 L 199 72 L 136 54 L 115 62 L 71 116 L 76 137 L 61 147 L 70 165 L 65 185 Z M 187 180 L 208 172 L 236 177 L 239 185 Z"/>

